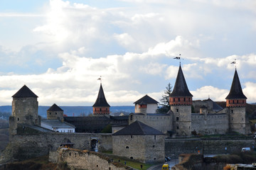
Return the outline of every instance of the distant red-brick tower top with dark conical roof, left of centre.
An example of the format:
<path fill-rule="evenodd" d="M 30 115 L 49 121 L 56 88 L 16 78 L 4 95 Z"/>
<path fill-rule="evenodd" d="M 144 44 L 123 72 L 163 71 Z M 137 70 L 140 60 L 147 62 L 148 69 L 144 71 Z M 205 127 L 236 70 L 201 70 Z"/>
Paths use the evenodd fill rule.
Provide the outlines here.
<path fill-rule="evenodd" d="M 92 109 L 93 115 L 110 115 L 110 105 L 107 103 L 101 83 L 97 100 L 92 106 Z"/>

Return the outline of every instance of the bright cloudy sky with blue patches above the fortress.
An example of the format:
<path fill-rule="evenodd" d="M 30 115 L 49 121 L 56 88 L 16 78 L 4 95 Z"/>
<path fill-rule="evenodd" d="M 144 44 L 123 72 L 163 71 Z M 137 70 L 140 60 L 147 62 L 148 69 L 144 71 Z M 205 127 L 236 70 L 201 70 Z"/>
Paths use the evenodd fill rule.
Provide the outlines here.
<path fill-rule="evenodd" d="M 256 102 L 255 0 L 1 0 L 0 106 L 24 84 L 41 106 L 159 101 L 181 66 L 193 99 L 225 101 L 235 64 Z"/>

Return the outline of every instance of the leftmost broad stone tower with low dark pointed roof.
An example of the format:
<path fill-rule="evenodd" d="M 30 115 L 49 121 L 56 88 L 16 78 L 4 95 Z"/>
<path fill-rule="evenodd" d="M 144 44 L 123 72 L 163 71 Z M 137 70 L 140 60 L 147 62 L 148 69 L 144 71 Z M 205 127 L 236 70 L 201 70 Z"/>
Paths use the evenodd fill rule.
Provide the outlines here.
<path fill-rule="evenodd" d="M 12 98 L 12 113 L 9 118 L 11 135 L 16 135 L 18 124 L 40 125 L 38 96 L 31 89 L 24 85 Z"/>

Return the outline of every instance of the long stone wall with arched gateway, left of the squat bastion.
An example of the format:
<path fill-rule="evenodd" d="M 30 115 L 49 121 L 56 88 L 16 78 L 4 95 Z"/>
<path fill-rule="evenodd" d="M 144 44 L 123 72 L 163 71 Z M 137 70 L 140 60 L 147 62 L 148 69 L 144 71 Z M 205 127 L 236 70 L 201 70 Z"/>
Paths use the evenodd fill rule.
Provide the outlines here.
<path fill-rule="evenodd" d="M 13 135 L 5 153 L 11 153 L 12 159 L 16 160 L 40 157 L 48 154 L 49 151 L 58 149 L 66 139 L 74 143 L 73 148 L 75 149 L 91 149 L 91 140 L 97 139 L 100 152 L 112 150 L 111 134 L 46 132 L 33 135 Z"/>

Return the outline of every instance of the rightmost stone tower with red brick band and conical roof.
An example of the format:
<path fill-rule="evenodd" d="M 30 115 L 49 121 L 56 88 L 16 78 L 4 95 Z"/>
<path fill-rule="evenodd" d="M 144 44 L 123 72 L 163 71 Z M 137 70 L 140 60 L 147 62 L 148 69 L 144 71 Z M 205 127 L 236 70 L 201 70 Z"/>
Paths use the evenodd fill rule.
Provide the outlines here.
<path fill-rule="evenodd" d="M 225 98 L 228 108 L 230 131 L 246 134 L 245 106 L 247 97 L 242 93 L 238 72 L 235 69 L 230 93 Z"/>

